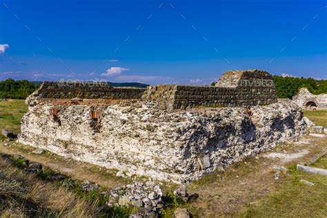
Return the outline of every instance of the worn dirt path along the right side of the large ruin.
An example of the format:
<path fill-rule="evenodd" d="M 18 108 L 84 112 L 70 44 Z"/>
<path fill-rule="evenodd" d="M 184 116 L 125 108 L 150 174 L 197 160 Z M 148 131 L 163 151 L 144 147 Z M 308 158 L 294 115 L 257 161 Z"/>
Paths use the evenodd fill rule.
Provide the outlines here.
<path fill-rule="evenodd" d="M 275 179 L 274 166 L 310 164 L 326 152 L 327 134 L 308 135 L 295 143 L 250 157 L 225 172 L 204 177 L 190 185 L 189 191 L 199 194 L 199 199 L 190 204 L 190 212 L 199 217 L 237 217 L 248 205 L 277 190 L 289 177 L 281 172 L 281 177 Z"/>

